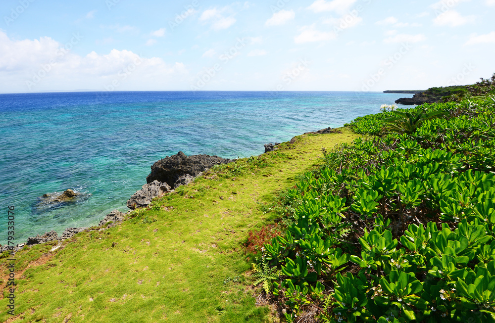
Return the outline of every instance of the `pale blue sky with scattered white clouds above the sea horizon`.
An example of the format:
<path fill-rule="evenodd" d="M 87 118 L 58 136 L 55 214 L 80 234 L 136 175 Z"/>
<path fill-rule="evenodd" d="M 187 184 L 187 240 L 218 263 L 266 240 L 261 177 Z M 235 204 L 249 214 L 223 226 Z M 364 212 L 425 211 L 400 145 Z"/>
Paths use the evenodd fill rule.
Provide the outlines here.
<path fill-rule="evenodd" d="M 495 0 L 3 0 L 0 92 L 383 91 L 495 72 Z"/>

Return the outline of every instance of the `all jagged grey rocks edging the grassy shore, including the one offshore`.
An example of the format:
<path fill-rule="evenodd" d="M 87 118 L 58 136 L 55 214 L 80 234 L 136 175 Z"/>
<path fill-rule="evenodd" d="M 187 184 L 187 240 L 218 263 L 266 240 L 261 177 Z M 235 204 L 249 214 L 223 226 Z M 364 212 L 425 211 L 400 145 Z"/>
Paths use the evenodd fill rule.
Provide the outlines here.
<path fill-rule="evenodd" d="M 316 132 L 305 133 L 305 135 L 330 134 L 339 132 L 339 130 L 327 128 L 318 130 Z M 290 142 L 294 143 L 295 138 L 292 138 Z M 265 153 L 276 150 L 277 145 L 279 144 L 280 143 L 265 144 Z M 186 154 L 184 154 L 182 151 L 179 151 L 176 155 L 167 156 L 151 165 L 151 172 L 146 178 L 147 184 L 143 185 L 142 188 L 134 193 L 127 201 L 126 205 L 130 209 L 127 213 L 113 210 L 99 222 L 97 228 L 67 228 L 60 236 L 56 231 L 52 230 L 41 235 L 38 234 L 35 237 L 28 237 L 25 243 L 19 243 L 13 249 L 10 249 L 7 245 L 0 245 L 0 254 L 5 251 L 11 251 L 13 254 L 15 254 L 15 252 L 24 248 L 25 246 L 33 246 L 50 241 L 61 242 L 73 237 L 79 232 L 90 230 L 102 231 L 106 228 L 114 227 L 119 223 L 125 221 L 126 215 L 131 213 L 133 210 L 137 208 L 147 207 L 151 203 L 151 200 L 153 198 L 173 192 L 179 186 L 192 183 L 197 177 L 201 176 L 204 171 L 210 169 L 215 165 L 228 164 L 234 161 L 235 159 L 226 159 L 218 156 L 209 155 L 186 156 Z M 49 202 L 66 202 L 74 199 L 77 196 L 78 193 L 74 192 L 71 189 L 68 189 L 56 196 L 53 196 L 52 194 L 44 194 L 43 198 L 50 199 Z"/>

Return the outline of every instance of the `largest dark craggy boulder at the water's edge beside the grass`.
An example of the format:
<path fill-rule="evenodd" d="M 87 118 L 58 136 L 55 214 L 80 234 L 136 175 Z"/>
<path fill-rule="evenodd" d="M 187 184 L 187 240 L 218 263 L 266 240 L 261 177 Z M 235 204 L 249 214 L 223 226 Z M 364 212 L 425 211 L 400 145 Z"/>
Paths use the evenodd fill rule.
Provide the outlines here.
<path fill-rule="evenodd" d="M 197 177 L 205 170 L 218 165 L 233 162 L 232 159 L 225 159 L 218 156 L 193 155 L 186 156 L 182 151 L 177 155 L 163 158 L 151 166 L 151 173 L 146 178 L 149 184 L 153 181 L 166 183 L 175 187 L 175 183 L 186 174 Z"/>

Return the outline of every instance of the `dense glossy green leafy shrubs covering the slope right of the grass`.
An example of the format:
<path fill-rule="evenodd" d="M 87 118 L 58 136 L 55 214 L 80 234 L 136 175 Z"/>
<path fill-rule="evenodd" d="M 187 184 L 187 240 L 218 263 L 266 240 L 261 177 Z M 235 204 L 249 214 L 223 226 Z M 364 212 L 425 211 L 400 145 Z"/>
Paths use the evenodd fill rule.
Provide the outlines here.
<path fill-rule="evenodd" d="M 254 264 L 283 320 L 495 322 L 494 81 L 357 118 L 285 194 Z"/>

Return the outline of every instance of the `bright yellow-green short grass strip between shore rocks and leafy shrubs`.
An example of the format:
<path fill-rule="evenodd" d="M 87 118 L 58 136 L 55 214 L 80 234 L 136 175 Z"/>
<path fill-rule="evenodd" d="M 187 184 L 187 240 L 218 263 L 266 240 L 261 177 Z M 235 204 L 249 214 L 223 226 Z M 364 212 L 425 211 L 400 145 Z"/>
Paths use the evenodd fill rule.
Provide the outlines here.
<path fill-rule="evenodd" d="M 82 232 L 55 251 L 38 245 L 18 252 L 16 317 L 5 322 L 263 322 L 249 264 L 240 253 L 247 231 L 270 221 L 260 204 L 295 185 L 318 162 L 321 147 L 356 138 L 303 135 L 266 154 L 270 166 L 237 179 L 200 178 L 169 194 L 143 217 L 106 231 Z M 192 195 L 192 197 L 191 197 Z M 143 219 L 155 222 L 144 223 Z M 5 260 L 0 262 L 6 273 Z M 27 269 L 26 269 L 27 268 Z M 226 281 L 241 277 L 242 282 Z M 6 295 L 5 277 L 2 277 Z M 221 315 L 219 315 L 221 314 Z"/>

